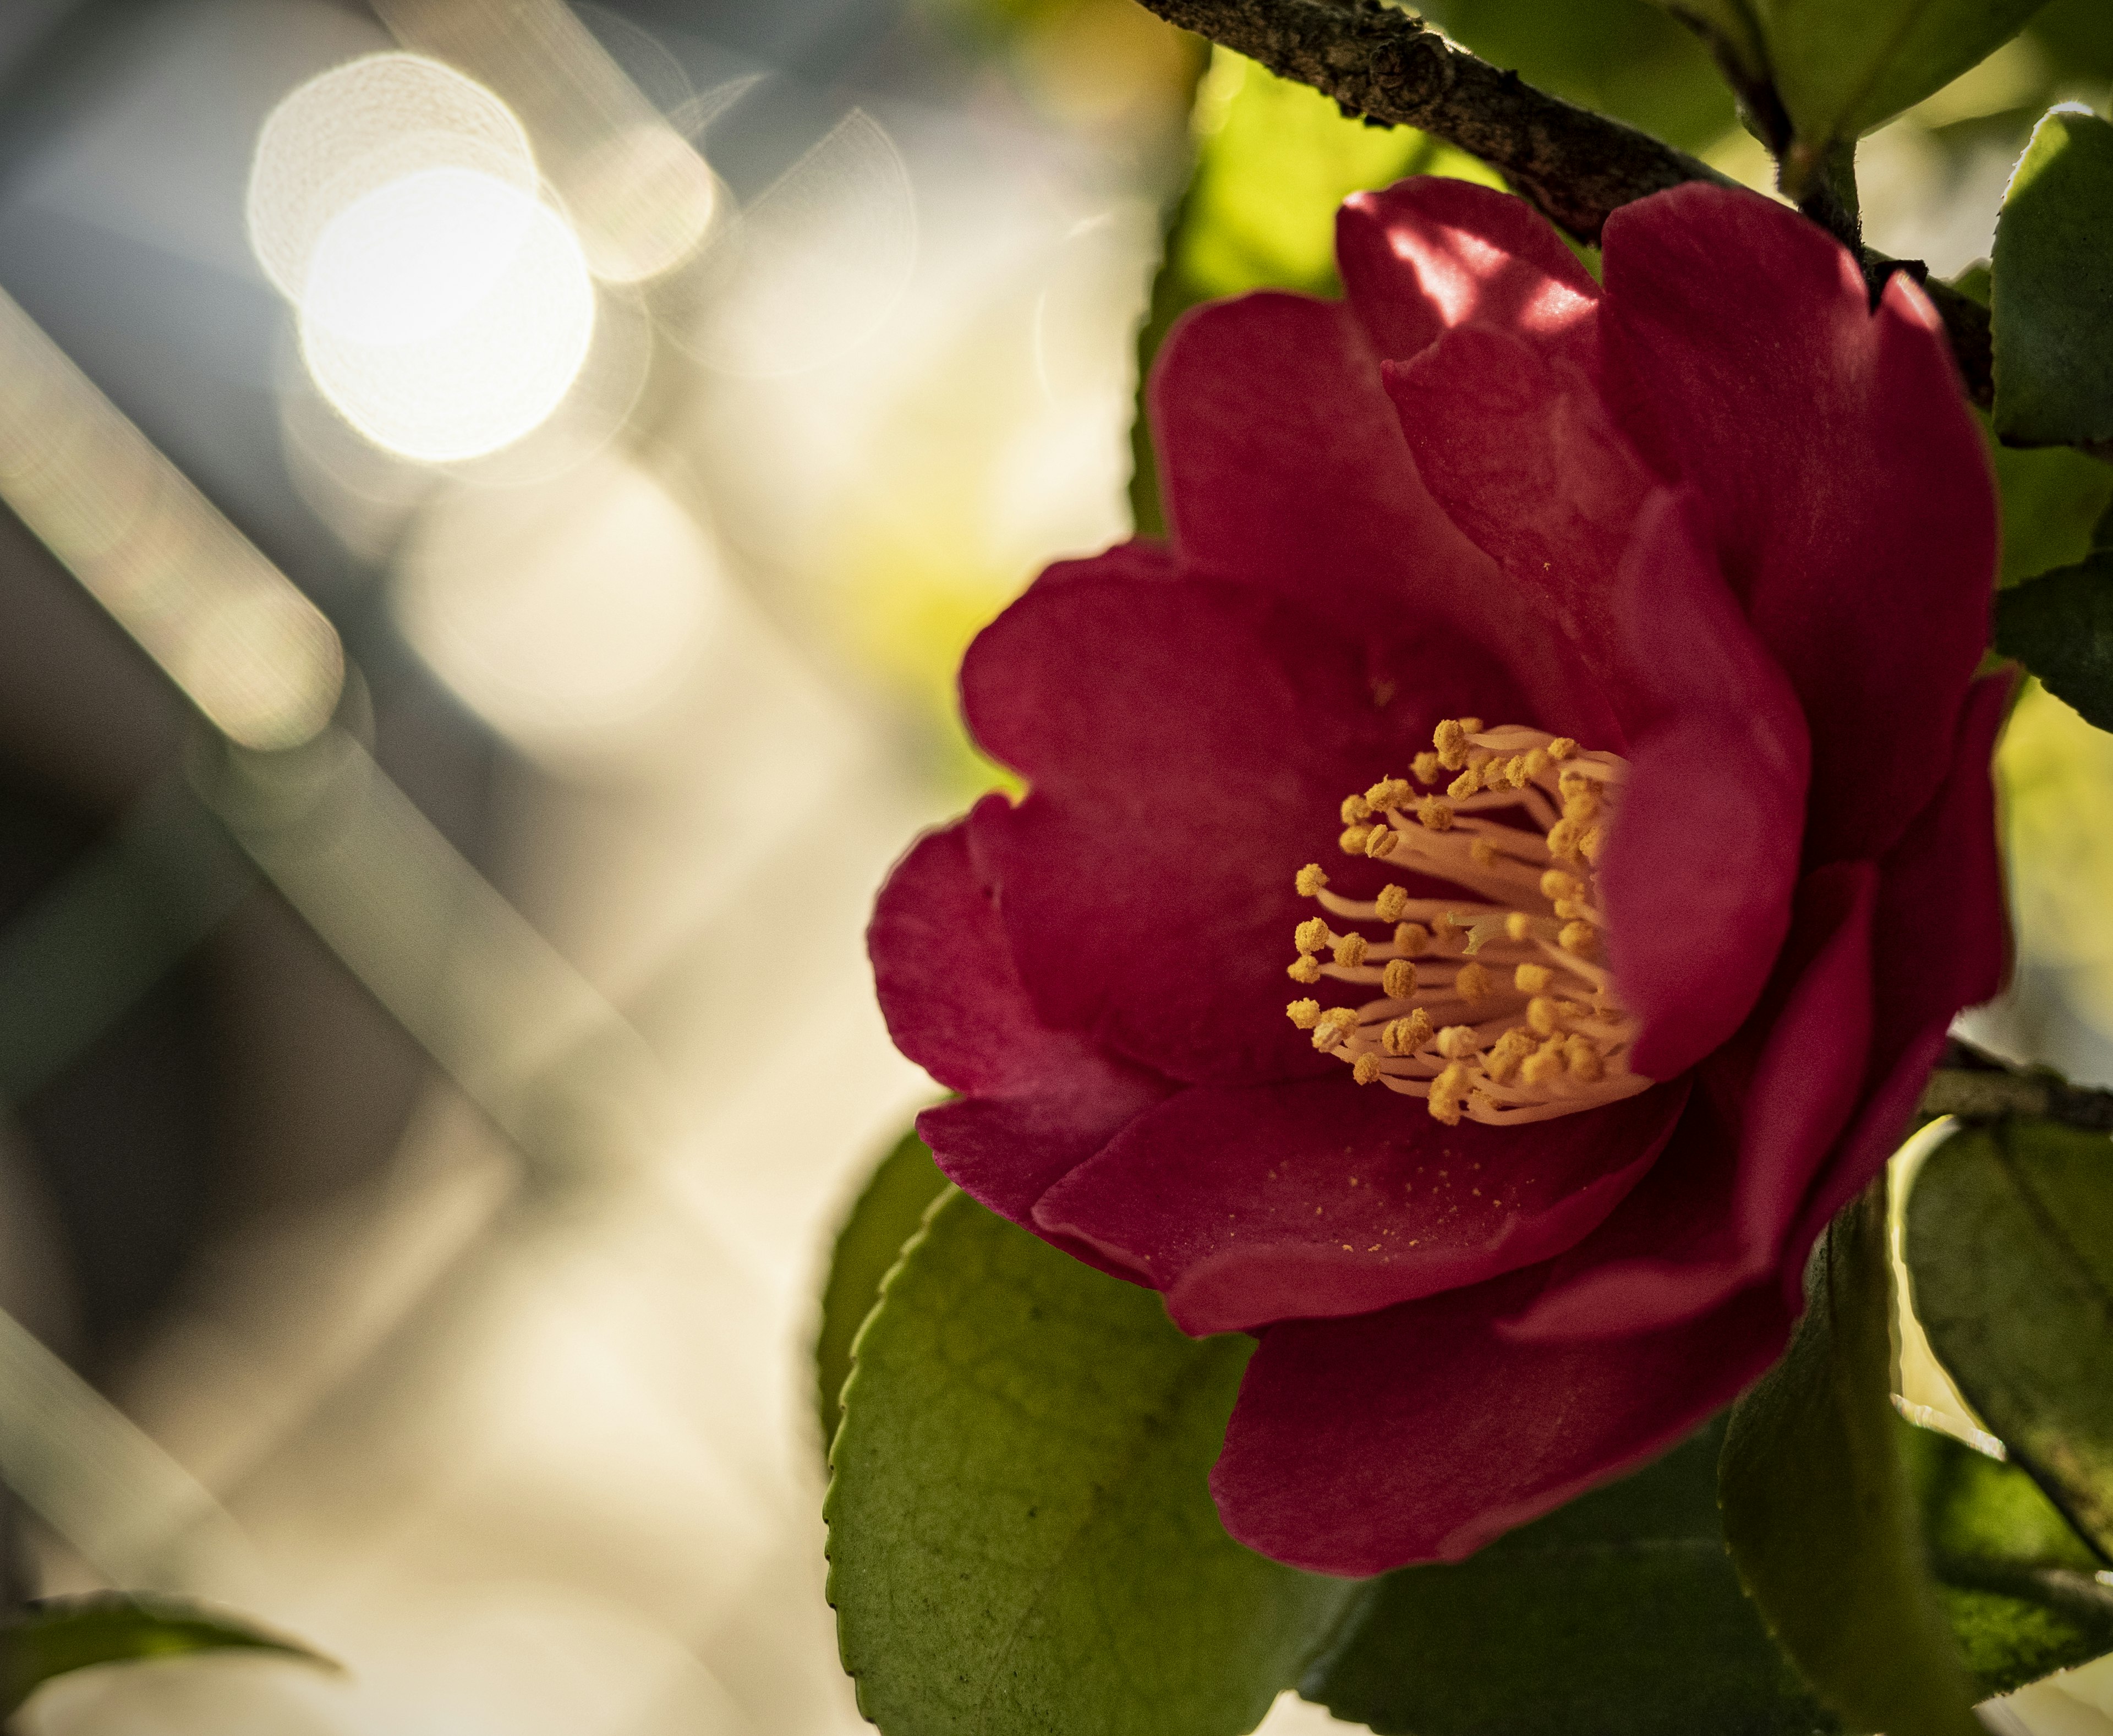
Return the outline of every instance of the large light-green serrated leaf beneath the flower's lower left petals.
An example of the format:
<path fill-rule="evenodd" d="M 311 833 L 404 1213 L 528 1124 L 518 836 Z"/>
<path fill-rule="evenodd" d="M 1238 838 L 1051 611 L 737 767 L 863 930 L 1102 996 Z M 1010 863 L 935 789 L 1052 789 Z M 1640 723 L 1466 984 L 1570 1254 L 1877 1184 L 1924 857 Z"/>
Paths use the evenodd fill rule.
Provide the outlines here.
<path fill-rule="evenodd" d="M 858 1335 L 833 1453 L 860 1711 L 887 1736 L 1253 1730 L 1361 1586 L 1219 1525 L 1251 1350 L 942 1193 Z"/>

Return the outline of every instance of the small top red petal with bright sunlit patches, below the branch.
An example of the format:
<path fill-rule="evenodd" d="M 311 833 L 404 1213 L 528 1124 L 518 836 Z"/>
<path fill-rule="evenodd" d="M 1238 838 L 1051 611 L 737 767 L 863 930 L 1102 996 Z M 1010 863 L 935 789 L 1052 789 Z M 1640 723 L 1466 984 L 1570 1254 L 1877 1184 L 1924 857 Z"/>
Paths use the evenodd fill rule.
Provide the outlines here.
<path fill-rule="evenodd" d="M 1600 300 L 1532 205 L 1443 175 L 1352 192 L 1335 213 L 1335 262 L 1373 346 L 1395 359 L 1469 323 L 1562 338 Z"/>

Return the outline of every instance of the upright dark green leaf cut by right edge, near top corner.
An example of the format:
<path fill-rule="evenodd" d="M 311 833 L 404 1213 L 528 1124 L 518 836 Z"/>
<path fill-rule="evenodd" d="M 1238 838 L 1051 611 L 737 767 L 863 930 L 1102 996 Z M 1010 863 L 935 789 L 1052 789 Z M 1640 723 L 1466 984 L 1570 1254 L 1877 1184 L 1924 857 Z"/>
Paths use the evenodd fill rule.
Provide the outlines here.
<path fill-rule="evenodd" d="M 2113 441 L 2113 127 L 2041 118 L 1995 226 L 1995 431 Z"/>

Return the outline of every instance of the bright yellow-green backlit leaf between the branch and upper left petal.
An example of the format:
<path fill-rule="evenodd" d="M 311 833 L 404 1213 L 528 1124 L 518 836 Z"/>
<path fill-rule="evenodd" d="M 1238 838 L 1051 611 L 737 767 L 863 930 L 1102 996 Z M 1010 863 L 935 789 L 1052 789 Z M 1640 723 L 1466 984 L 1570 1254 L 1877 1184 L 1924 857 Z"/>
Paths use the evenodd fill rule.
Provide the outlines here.
<path fill-rule="evenodd" d="M 1196 173 L 1175 207 L 1152 304 L 1137 338 L 1130 509 L 1139 534 L 1166 530 L 1143 382 L 1160 340 L 1188 308 L 1249 289 L 1333 296 L 1335 207 L 1403 175 L 1452 175 L 1502 186 L 1462 150 L 1414 127 L 1344 118 L 1319 91 L 1230 53 L 1211 51 L 1196 91 Z"/>

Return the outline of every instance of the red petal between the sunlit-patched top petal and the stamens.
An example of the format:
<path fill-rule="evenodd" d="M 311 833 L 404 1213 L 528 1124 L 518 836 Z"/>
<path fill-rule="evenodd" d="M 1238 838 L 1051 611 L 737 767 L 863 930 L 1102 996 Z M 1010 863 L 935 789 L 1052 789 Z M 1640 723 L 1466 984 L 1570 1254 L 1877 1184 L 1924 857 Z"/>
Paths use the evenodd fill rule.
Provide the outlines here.
<path fill-rule="evenodd" d="M 1597 386 L 1574 361 L 1479 325 L 1382 372 L 1424 486 L 1511 579 L 1507 657 L 1568 644 L 1600 688 L 1574 701 L 1574 729 L 1523 722 L 1623 748 L 1616 718 L 1631 695 L 1614 574 L 1659 484 Z"/>

